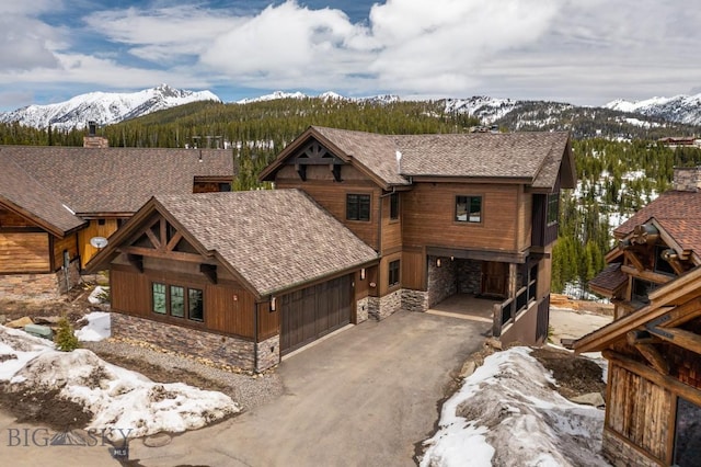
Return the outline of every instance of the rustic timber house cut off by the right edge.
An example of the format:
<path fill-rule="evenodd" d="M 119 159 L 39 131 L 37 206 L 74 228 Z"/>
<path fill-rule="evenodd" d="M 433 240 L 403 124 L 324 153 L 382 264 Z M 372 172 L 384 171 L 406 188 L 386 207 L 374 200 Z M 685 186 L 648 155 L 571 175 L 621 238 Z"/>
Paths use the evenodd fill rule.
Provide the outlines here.
<path fill-rule="evenodd" d="M 701 170 L 675 169 L 663 193 L 614 230 L 590 288 L 616 320 L 574 342 L 609 361 L 604 453 L 617 466 L 701 458 Z"/>

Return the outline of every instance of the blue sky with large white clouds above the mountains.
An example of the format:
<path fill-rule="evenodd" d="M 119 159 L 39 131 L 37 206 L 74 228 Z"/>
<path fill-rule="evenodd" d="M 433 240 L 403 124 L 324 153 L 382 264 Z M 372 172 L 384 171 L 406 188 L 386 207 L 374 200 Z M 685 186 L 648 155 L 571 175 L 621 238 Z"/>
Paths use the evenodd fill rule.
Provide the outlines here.
<path fill-rule="evenodd" d="M 0 4 L 0 111 L 161 83 L 602 105 L 701 93 L 701 0 Z"/>

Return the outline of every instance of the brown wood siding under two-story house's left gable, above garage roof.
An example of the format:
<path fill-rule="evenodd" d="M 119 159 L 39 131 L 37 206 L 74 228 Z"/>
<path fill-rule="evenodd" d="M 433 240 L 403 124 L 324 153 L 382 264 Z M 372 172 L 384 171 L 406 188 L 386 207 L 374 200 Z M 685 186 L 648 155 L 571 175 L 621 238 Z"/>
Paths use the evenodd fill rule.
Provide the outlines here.
<path fill-rule="evenodd" d="M 335 182 L 333 174 L 324 166 L 308 167 L 307 181 L 302 181 L 294 167 L 284 167 L 275 179 L 276 189 L 299 189 L 311 196 L 324 209 L 344 224 L 358 238 L 375 250 L 379 250 L 380 198 L 382 190 L 356 169 L 344 166 L 342 182 Z M 370 220 L 346 220 L 346 195 L 370 195 Z M 389 216 L 389 202 L 388 202 Z"/>

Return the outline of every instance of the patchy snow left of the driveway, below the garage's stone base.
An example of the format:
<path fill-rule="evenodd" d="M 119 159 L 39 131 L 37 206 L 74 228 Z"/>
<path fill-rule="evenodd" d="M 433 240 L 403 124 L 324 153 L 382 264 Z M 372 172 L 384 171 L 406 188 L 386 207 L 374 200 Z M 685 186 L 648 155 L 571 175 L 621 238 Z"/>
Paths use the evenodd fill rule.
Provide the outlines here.
<path fill-rule="evenodd" d="M 104 332 L 104 317 L 89 315 L 81 330 L 88 338 Z M 240 411 L 221 392 L 181 383 L 159 384 L 146 376 L 108 364 L 93 352 L 55 350 L 53 342 L 0 326 L 0 386 L 7 392 L 58 391 L 90 411 L 85 429 L 106 430 L 117 437 L 128 429 L 130 437 L 159 432 L 183 432 Z"/>

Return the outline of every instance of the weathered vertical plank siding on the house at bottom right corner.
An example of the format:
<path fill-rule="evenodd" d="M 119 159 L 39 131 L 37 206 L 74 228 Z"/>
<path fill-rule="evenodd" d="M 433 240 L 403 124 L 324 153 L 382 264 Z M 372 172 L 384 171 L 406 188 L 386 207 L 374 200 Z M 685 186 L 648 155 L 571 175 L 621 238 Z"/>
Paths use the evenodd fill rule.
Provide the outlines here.
<path fill-rule="evenodd" d="M 609 365 L 606 426 L 663 463 L 669 447 L 673 403 L 670 391 L 621 365 Z"/>

